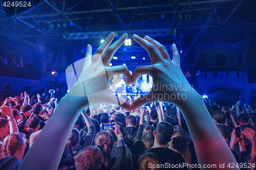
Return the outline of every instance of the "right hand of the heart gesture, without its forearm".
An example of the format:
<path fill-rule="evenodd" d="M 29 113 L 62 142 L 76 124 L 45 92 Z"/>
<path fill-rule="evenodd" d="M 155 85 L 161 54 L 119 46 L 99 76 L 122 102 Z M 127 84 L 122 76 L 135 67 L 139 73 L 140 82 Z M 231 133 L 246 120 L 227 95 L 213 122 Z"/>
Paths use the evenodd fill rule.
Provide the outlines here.
<path fill-rule="evenodd" d="M 133 39 L 150 55 L 151 65 L 136 67 L 131 83 L 135 84 L 140 75 L 147 74 L 153 77 L 153 86 L 148 94 L 134 101 L 132 109 L 136 110 L 146 103 L 155 101 L 174 104 L 182 102 L 182 97 L 185 98 L 187 91 L 193 90 L 193 88 L 190 87 L 181 71 L 180 56 L 176 45 L 172 45 L 173 59 L 171 60 L 165 47 L 153 38 L 148 36 L 141 38 L 133 35 Z M 177 88 L 181 85 L 182 89 Z M 173 86 L 173 90 L 168 90 L 170 86 Z M 186 90 L 183 87 L 186 87 Z"/>

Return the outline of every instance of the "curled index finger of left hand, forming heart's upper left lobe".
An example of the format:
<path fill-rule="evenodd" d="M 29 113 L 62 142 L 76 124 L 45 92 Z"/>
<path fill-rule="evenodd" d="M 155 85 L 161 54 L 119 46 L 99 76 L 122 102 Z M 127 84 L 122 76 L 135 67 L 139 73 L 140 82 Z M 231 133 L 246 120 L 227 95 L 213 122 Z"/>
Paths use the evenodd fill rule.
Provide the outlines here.
<path fill-rule="evenodd" d="M 129 85 L 131 83 L 132 75 L 127 66 L 125 65 L 108 67 L 107 69 L 105 69 L 105 71 L 108 72 L 109 79 L 114 75 L 122 74 L 125 78 L 126 84 Z"/>

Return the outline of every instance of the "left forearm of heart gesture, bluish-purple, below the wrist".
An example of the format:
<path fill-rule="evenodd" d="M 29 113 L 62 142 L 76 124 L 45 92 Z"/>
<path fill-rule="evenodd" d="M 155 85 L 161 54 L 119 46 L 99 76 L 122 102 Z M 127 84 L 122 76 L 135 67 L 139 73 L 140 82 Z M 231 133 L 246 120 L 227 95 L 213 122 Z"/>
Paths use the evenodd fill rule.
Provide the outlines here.
<path fill-rule="evenodd" d="M 67 93 L 29 149 L 19 169 L 57 169 L 72 128 L 82 109 L 88 105 L 86 97 L 75 97 Z"/>

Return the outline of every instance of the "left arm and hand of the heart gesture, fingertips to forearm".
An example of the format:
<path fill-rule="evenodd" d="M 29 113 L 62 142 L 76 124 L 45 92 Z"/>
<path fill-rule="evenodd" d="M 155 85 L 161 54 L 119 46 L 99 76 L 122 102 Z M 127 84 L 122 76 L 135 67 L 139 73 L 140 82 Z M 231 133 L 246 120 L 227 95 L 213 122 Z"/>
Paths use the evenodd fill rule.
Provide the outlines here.
<path fill-rule="evenodd" d="M 110 67 L 109 65 L 114 53 L 127 38 L 127 34 L 124 34 L 110 45 L 114 35 L 111 33 L 101 43 L 93 60 L 91 60 L 92 48 L 88 45 L 86 58 L 82 60 L 81 67 L 76 67 L 79 63 L 74 63 L 77 75 L 74 74 L 72 65 L 68 67 L 71 70 L 67 68 L 66 75 L 68 77 L 73 75 L 71 79 L 75 81 L 68 82 L 68 86 L 73 88 L 60 100 L 54 114 L 34 141 L 19 169 L 57 169 L 72 128 L 82 110 L 89 105 L 101 103 L 118 105 L 116 96 L 109 89 L 107 78 L 123 74 L 127 83 L 130 83 L 131 74 L 126 66 Z M 79 77 L 78 80 L 76 77 Z M 119 103 L 121 107 L 131 111 L 131 105 L 127 101 L 120 98 Z"/>

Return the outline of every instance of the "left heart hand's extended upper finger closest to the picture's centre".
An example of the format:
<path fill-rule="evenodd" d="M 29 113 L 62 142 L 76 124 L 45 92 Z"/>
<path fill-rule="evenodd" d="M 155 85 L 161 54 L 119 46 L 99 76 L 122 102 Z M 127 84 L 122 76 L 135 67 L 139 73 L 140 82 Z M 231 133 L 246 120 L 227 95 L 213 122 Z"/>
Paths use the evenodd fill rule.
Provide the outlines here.
<path fill-rule="evenodd" d="M 124 33 L 118 40 L 116 40 L 112 45 L 110 45 L 108 48 L 106 48 L 106 51 L 102 55 L 101 59 L 104 65 L 109 66 L 109 63 L 115 54 L 115 52 L 118 50 L 118 48 L 124 43 L 126 38 L 128 37 L 127 33 Z"/>

